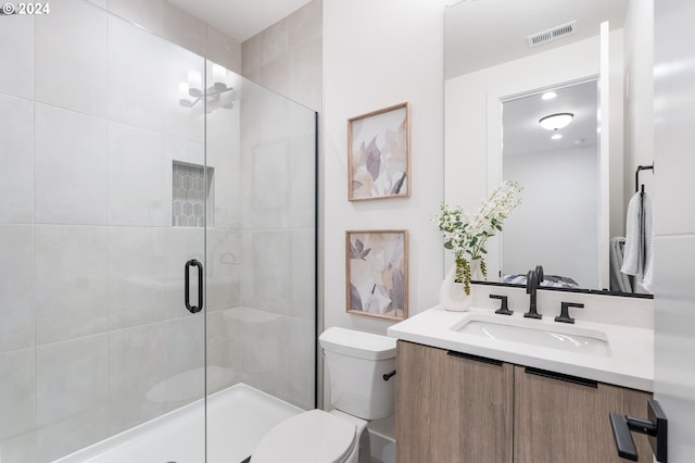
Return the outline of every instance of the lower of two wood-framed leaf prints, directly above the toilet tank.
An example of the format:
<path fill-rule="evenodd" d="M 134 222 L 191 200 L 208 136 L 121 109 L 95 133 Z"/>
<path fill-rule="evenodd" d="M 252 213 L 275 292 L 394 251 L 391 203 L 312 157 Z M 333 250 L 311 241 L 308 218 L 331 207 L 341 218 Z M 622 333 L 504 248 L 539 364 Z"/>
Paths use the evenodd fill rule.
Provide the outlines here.
<path fill-rule="evenodd" d="M 407 318 L 407 230 L 345 232 L 345 293 L 348 313 Z"/>

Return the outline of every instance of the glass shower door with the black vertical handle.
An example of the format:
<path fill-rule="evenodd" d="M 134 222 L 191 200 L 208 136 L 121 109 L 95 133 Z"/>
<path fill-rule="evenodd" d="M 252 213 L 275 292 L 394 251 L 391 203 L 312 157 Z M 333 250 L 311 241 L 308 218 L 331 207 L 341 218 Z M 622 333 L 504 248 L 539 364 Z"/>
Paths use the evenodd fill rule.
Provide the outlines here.
<path fill-rule="evenodd" d="M 0 22 L 0 461 L 203 462 L 204 60 L 83 0 Z"/>

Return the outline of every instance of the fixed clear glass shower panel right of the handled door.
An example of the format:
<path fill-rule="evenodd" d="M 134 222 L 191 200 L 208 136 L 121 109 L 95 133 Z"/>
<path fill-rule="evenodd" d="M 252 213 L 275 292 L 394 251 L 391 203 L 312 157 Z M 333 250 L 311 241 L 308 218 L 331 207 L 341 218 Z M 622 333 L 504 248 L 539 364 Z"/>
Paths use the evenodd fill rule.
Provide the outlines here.
<path fill-rule="evenodd" d="M 206 450 L 241 462 L 316 406 L 316 113 L 206 66 Z"/>

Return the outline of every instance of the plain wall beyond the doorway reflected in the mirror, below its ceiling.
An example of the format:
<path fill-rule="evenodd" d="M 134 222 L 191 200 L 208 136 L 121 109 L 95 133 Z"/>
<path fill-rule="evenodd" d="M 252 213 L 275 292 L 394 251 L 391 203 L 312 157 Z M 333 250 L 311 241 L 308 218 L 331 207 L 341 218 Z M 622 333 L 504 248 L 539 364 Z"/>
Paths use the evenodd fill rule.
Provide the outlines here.
<path fill-rule="evenodd" d="M 596 145 L 505 157 L 504 178 L 523 185 L 523 200 L 505 224 L 503 274 L 542 263 L 546 275 L 597 288 Z"/>

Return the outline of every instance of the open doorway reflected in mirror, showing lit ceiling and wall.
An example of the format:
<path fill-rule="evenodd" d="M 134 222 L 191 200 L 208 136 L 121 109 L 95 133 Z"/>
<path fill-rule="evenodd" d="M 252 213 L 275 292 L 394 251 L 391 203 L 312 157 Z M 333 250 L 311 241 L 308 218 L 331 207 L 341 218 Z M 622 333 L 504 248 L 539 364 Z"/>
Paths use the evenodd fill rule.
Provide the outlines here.
<path fill-rule="evenodd" d="M 597 97 L 590 79 L 503 102 L 502 176 L 523 185 L 504 228 L 505 283 L 543 263 L 546 285 L 598 287 Z M 566 125 L 544 127 L 555 114 Z"/>

